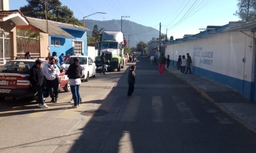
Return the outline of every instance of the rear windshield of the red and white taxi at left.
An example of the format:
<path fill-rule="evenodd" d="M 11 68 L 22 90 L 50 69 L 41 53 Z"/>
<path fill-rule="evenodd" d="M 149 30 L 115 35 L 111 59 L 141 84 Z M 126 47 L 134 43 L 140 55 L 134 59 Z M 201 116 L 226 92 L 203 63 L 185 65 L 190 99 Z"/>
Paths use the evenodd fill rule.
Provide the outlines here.
<path fill-rule="evenodd" d="M 9 61 L 0 69 L 0 73 L 29 74 L 34 63 L 32 61 Z"/>

